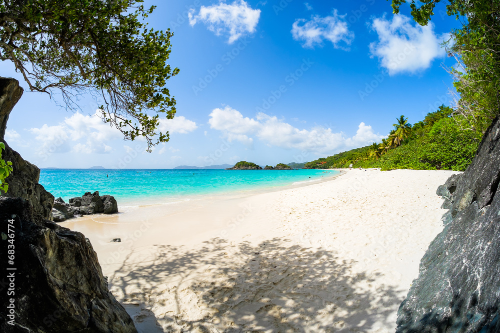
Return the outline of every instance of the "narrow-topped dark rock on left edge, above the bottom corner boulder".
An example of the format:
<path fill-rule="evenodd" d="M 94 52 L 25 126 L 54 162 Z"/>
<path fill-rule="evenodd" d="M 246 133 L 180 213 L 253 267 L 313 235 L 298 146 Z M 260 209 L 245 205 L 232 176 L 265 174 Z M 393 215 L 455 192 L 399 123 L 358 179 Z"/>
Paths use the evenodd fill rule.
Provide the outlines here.
<path fill-rule="evenodd" d="M 0 141 L 5 144 L 2 158 L 12 162 L 12 173 L 6 179 L 8 183 L 7 193 L 1 193 L 3 197 L 20 197 L 28 200 L 33 206 L 34 214 L 46 220 L 52 220 L 52 203 L 54 197 L 43 186 L 38 184 L 40 169 L 25 161 L 14 150 L 12 150 L 4 135 L 8 116 L 15 103 L 22 95 L 19 82 L 12 78 L 0 77 Z"/>

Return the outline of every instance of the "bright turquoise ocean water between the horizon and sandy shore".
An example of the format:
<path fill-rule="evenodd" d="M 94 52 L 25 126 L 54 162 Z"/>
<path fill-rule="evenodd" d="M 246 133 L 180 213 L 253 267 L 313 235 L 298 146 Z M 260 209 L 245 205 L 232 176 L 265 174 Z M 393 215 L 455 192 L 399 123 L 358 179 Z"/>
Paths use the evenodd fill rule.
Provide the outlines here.
<path fill-rule="evenodd" d="M 333 170 L 42 169 L 39 182 L 65 202 L 99 191 L 114 196 L 118 205 L 128 205 L 278 190 L 336 174 Z"/>

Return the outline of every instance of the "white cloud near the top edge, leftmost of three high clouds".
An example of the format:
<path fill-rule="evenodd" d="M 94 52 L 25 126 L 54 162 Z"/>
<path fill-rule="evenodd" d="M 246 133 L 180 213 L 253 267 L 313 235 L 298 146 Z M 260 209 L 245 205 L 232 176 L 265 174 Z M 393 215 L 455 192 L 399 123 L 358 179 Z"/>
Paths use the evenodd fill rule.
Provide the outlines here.
<path fill-rule="evenodd" d="M 243 0 L 231 4 L 219 2 L 208 7 L 201 6 L 197 14 L 193 8 L 189 10 L 191 26 L 200 21 L 215 35 L 228 36 L 229 44 L 247 33 L 255 32 L 259 18 L 260 9 L 252 9 Z"/>

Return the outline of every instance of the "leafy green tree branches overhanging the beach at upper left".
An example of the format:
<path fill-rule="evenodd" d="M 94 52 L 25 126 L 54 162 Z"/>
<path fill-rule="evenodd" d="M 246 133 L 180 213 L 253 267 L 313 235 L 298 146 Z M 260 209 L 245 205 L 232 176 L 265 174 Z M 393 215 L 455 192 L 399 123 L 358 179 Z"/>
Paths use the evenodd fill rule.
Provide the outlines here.
<path fill-rule="evenodd" d="M 165 84 L 179 70 L 166 63 L 170 29 L 148 28 L 154 6 L 141 2 L 0 0 L 0 59 L 14 63 L 31 91 L 60 94 L 69 108 L 90 92 L 103 121 L 125 139 L 144 137 L 150 151 L 168 141 L 156 129 L 160 113 L 175 114 Z"/>

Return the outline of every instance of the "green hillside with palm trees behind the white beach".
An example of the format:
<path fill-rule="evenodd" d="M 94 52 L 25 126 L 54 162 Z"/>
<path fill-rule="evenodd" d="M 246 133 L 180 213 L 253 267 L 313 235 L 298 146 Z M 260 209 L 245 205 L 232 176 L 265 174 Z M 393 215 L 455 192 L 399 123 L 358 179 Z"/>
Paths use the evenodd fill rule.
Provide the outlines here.
<path fill-rule="evenodd" d="M 305 165 L 308 169 L 354 168 L 463 171 L 472 161 L 482 133 L 462 130 L 451 117 L 453 110 L 441 105 L 413 126 L 400 116 L 387 139 Z"/>

